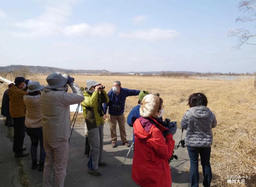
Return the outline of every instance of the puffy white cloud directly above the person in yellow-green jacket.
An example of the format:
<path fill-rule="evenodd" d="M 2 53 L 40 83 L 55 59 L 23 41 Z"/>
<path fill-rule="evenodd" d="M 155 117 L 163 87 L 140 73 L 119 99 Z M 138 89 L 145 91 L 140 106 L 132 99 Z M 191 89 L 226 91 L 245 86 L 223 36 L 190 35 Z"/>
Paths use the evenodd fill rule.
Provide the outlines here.
<path fill-rule="evenodd" d="M 64 28 L 64 34 L 68 36 L 110 36 L 115 32 L 115 26 L 112 24 L 98 24 L 90 26 L 82 23 Z"/>

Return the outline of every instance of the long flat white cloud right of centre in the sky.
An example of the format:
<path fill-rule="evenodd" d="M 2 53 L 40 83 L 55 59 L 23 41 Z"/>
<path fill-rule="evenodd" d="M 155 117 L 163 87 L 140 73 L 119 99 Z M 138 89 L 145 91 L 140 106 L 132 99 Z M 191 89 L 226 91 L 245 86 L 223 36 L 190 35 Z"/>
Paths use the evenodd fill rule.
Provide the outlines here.
<path fill-rule="evenodd" d="M 131 38 L 131 39 L 142 39 L 147 41 L 161 41 L 169 40 L 179 36 L 179 33 L 175 30 L 161 30 L 161 29 L 151 29 L 151 30 L 138 30 L 131 33 L 120 33 L 120 37 Z"/>

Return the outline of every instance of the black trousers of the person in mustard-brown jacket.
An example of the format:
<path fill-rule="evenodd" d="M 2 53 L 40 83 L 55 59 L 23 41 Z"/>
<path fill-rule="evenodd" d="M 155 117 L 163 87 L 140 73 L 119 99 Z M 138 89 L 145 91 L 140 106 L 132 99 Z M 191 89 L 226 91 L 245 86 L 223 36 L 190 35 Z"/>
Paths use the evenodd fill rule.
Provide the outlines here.
<path fill-rule="evenodd" d="M 23 152 L 22 147 L 25 138 L 25 116 L 12 119 L 14 126 L 13 150 L 15 154 L 21 154 Z"/>

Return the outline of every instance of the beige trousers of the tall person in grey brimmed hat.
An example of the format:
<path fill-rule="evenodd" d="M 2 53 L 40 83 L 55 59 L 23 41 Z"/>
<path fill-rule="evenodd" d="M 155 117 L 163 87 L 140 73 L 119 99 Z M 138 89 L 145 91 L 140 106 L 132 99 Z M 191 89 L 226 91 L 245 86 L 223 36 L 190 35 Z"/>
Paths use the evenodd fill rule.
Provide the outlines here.
<path fill-rule="evenodd" d="M 63 187 L 68 165 L 68 140 L 50 142 L 44 140 L 46 162 L 44 164 L 43 187 L 52 187 L 53 169 L 54 186 Z"/>

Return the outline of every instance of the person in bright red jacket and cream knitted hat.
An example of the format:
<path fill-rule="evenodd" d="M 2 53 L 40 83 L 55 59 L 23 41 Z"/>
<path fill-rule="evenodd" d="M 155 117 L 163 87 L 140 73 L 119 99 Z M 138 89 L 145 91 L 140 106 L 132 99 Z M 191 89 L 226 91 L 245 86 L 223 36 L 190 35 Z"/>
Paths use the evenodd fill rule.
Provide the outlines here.
<path fill-rule="evenodd" d="M 163 113 L 162 98 L 148 94 L 140 107 L 140 118 L 134 122 L 136 151 L 132 161 L 132 179 L 141 187 L 170 187 L 172 177 L 168 159 L 174 149 L 173 134 L 177 126 L 165 128 L 154 116 Z M 164 132 L 164 133 L 163 133 Z M 163 135 L 165 134 L 165 135 Z"/>

